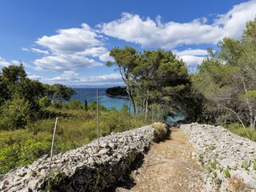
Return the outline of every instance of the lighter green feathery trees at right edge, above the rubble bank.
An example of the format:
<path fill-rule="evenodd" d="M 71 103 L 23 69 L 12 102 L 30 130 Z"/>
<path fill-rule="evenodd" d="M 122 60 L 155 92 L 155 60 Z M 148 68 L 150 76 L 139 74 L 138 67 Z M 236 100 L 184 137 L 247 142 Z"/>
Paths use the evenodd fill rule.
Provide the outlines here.
<path fill-rule="evenodd" d="M 255 31 L 256 18 L 246 23 L 241 39 L 224 38 L 218 51 L 208 50 L 192 76 L 194 92 L 203 103 L 198 121 L 256 128 Z"/>

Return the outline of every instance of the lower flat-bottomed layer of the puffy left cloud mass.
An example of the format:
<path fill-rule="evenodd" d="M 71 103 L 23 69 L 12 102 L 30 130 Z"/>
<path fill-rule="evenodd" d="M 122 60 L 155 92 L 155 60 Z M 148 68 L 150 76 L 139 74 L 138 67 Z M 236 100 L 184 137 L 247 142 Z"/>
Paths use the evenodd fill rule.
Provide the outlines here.
<path fill-rule="evenodd" d="M 94 59 L 77 54 L 50 55 L 34 61 L 37 70 L 79 70 L 86 67 L 102 66 Z"/>

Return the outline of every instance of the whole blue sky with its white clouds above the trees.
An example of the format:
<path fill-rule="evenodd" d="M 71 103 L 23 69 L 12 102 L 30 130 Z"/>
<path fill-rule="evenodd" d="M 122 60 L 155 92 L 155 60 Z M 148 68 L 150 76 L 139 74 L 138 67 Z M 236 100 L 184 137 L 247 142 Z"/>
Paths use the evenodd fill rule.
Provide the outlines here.
<path fill-rule="evenodd" d="M 122 86 L 106 66 L 114 47 L 171 50 L 194 71 L 206 49 L 241 38 L 256 0 L 1 0 L 0 70 L 72 87 Z"/>

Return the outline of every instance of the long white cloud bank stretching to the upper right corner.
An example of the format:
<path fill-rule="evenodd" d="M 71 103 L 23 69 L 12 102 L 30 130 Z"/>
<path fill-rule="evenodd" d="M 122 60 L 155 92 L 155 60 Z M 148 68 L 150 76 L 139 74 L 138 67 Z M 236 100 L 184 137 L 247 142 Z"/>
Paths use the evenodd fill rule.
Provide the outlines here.
<path fill-rule="evenodd" d="M 246 21 L 255 17 L 256 1 L 243 2 L 226 14 L 218 15 L 212 24 L 206 18 L 191 22 L 162 23 L 151 18 L 140 18 L 138 14 L 122 14 L 122 18 L 98 25 L 99 30 L 110 37 L 134 42 L 143 47 L 174 48 L 180 45 L 216 44 L 225 36 L 238 38 Z"/>

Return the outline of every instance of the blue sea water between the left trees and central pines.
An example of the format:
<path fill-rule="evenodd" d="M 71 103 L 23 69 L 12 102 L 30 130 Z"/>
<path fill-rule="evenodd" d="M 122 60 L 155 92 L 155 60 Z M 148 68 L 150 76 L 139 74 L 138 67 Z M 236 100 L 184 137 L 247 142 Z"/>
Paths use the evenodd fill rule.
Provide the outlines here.
<path fill-rule="evenodd" d="M 73 88 L 76 92 L 71 99 L 78 99 L 80 102 L 84 102 L 85 99 L 87 100 L 88 104 L 90 102 L 96 101 L 96 88 Z M 107 109 L 111 109 L 115 107 L 116 110 L 121 110 L 122 105 L 129 104 L 129 99 L 126 98 L 112 98 L 106 96 L 106 88 L 98 88 L 98 99 L 102 106 L 105 106 Z"/>

